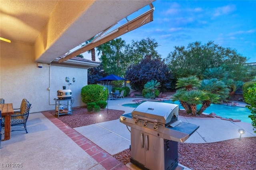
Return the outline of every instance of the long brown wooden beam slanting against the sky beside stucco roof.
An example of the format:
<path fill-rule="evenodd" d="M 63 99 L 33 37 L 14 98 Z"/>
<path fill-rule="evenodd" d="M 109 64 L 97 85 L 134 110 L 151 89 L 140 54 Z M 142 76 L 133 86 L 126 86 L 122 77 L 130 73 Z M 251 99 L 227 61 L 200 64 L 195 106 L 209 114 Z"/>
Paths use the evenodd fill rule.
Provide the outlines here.
<path fill-rule="evenodd" d="M 101 44 L 104 44 L 106 42 L 114 40 L 115 38 L 122 36 L 123 34 L 125 34 L 127 32 L 135 30 L 136 28 L 139 28 L 140 26 L 143 26 L 144 24 L 147 24 L 147 23 L 153 21 L 153 11 L 154 11 L 154 7 L 151 8 L 150 10 L 148 10 L 147 12 L 145 12 L 144 14 L 141 14 L 140 16 L 130 20 L 129 22 L 125 23 L 124 25 L 109 32 L 108 34 L 106 34 L 102 37 L 96 38 L 96 40 L 94 40 L 94 42 L 90 42 L 90 43 L 84 45 L 84 47 L 77 49 L 76 51 L 68 54 L 65 57 L 60 58 L 59 63 L 62 63 L 63 61 L 73 58 L 76 55 L 84 53 L 92 48 L 98 47 Z"/>

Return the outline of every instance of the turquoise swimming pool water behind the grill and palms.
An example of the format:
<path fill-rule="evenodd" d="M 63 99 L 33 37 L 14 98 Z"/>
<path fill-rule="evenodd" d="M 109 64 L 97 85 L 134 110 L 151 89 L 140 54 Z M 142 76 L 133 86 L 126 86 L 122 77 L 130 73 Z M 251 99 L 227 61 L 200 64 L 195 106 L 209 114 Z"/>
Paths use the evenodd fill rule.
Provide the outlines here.
<path fill-rule="evenodd" d="M 184 109 L 179 101 L 163 101 L 165 103 L 174 103 L 176 105 L 179 105 L 180 109 Z M 139 104 L 131 103 L 131 104 L 124 104 L 122 106 L 126 107 L 137 107 Z M 218 105 L 218 104 L 211 104 L 210 107 L 208 107 L 204 113 L 216 113 L 216 115 L 221 116 L 223 118 L 232 118 L 232 119 L 240 119 L 243 122 L 246 123 L 252 123 L 252 120 L 248 117 L 248 115 L 251 114 L 250 110 L 246 107 L 233 107 L 233 106 L 226 106 L 226 105 Z"/>

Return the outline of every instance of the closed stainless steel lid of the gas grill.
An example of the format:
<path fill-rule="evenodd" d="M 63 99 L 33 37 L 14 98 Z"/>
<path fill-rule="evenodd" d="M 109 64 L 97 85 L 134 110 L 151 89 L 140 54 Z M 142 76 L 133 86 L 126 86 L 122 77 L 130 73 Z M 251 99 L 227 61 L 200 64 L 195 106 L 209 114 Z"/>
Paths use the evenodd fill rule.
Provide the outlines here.
<path fill-rule="evenodd" d="M 146 101 L 132 111 L 132 117 L 137 119 L 152 119 L 152 121 L 168 125 L 178 120 L 178 112 L 179 105 Z"/>

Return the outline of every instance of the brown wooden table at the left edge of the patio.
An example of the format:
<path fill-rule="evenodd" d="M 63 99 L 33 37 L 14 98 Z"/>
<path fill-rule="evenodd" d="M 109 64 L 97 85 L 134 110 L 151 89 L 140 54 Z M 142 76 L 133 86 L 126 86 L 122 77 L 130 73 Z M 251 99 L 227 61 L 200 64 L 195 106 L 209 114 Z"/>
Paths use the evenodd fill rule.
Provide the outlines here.
<path fill-rule="evenodd" d="M 4 140 L 11 136 L 11 115 L 14 114 L 12 103 L 0 104 L 1 115 L 4 117 Z"/>

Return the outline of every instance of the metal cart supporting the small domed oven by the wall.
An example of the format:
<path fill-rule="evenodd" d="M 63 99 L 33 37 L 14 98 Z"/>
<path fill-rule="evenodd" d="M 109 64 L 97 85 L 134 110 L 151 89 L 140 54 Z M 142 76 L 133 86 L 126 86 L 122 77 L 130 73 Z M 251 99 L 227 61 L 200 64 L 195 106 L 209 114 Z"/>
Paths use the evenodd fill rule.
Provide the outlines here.
<path fill-rule="evenodd" d="M 72 115 L 72 103 L 74 102 L 74 98 L 64 98 L 64 99 L 54 99 L 55 101 L 55 115 L 58 115 L 58 118 L 60 115 Z M 62 105 L 61 102 L 67 102 L 67 110 L 60 111 L 60 105 Z M 65 105 L 65 104 L 63 104 Z M 58 108 L 57 108 L 58 106 Z"/>

